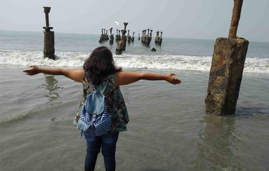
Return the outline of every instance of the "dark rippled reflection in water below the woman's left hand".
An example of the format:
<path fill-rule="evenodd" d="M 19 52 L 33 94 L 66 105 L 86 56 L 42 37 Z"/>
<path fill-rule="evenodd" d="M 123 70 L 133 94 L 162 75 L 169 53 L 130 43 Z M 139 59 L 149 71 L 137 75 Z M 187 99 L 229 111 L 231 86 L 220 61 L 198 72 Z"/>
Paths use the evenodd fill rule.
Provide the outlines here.
<path fill-rule="evenodd" d="M 58 80 L 54 78 L 54 75 L 44 75 L 46 79 L 46 84 L 43 85 L 46 86 L 47 90 L 49 90 L 49 93 L 47 95 L 44 95 L 44 97 L 49 98 L 49 101 L 47 102 L 48 104 L 60 97 L 60 94 L 57 90 L 62 87 L 58 86 Z"/>

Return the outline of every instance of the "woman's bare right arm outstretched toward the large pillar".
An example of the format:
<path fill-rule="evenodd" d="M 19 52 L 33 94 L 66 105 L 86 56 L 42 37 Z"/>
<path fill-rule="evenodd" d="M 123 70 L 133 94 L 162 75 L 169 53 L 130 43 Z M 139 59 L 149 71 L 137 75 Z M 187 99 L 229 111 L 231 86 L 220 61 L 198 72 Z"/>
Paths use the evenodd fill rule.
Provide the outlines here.
<path fill-rule="evenodd" d="M 139 72 L 116 72 L 117 85 L 131 84 L 138 80 L 165 80 L 171 84 L 180 84 L 181 80 L 173 77 L 176 73 L 169 74 L 153 74 L 153 73 L 139 73 Z"/>

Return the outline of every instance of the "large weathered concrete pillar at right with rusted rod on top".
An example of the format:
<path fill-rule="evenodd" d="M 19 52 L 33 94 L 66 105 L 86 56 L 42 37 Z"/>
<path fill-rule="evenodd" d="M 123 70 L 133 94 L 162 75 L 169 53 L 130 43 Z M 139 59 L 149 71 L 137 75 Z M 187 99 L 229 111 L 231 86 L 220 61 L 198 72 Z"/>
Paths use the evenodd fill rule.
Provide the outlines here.
<path fill-rule="evenodd" d="M 234 114 L 249 42 L 236 37 L 243 0 L 234 0 L 228 38 L 217 38 L 209 73 L 205 110 L 207 114 Z"/>

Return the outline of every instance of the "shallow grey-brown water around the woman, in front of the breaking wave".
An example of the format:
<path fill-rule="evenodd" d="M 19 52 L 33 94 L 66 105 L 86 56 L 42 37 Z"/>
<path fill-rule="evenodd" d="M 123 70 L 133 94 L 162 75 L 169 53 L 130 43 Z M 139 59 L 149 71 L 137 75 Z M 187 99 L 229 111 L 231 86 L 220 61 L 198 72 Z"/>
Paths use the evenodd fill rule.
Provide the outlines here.
<path fill-rule="evenodd" d="M 72 120 L 82 85 L 63 76 L 24 75 L 0 65 L 0 169 L 82 171 L 86 143 Z M 132 71 L 135 68 L 125 68 Z M 205 114 L 208 72 L 177 72 L 181 85 L 122 86 L 130 114 L 117 143 L 117 171 L 266 171 L 269 169 L 269 74 L 244 73 L 236 114 Z M 97 160 L 104 171 L 103 158 Z"/>

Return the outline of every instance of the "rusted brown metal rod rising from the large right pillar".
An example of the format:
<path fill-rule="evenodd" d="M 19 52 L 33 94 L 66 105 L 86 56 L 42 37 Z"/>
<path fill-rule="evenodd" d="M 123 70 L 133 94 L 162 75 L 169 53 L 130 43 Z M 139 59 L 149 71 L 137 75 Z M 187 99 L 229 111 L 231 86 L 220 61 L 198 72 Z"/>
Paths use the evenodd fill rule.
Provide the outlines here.
<path fill-rule="evenodd" d="M 243 4 L 243 0 L 234 0 L 233 15 L 232 15 L 231 26 L 229 30 L 229 38 L 236 37 L 242 4 Z"/>

